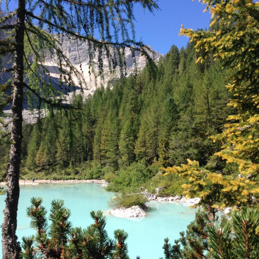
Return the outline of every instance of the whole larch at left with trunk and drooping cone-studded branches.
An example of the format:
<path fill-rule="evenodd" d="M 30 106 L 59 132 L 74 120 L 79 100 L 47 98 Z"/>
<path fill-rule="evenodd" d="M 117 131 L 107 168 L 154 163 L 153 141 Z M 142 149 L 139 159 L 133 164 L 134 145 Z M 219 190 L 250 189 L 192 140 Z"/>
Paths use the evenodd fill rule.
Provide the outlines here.
<path fill-rule="evenodd" d="M 62 51 L 62 37 L 67 35 L 69 39 L 84 41 L 89 47 L 90 63 L 93 66 L 94 58 L 99 58 L 100 71 L 102 72 L 102 58 L 119 54 L 119 63 L 123 59 L 121 47 L 128 45 L 139 46 L 140 51 L 146 54 L 146 47 L 141 42 L 135 41 L 133 26 L 133 3 L 139 2 L 144 8 L 153 11 L 157 4 L 151 0 L 137 1 L 43 1 L 43 0 L 19 0 L 14 12 L 8 12 L 9 1 L 5 1 L 7 10 L 1 13 L 1 31 L 6 36 L 0 41 L 1 47 L 1 71 L 13 72 L 10 80 L 3 85 L 5 93 L 12 93 L 7 102 L 12 100 L 12 129 L 10 157 L 7 178 L 7 199 L 5 216 L 2 225 L 3 259 L 18 258 L 18 250 L 13 240 L 13 230 L 16 230 L 17 206 L 19 199 L 19 175 L 21 163 L 22 144 L 22 103 L 26 95 L 29 104 L 42 107 L 73 108 L 69 104 L 61 104 L 60 99 L 63 86 L 69 90 L 75 90 L 75 85 L 84 88 L 83 73 L 75 68 Z M 37 13 L 39 9 L 39 13 Z M 125 17 L 121 16 L 125 14 Z M 12 23 L 12 18 L 15 22 Z M 110 23 L 112 21 L 112 23 Z M 132 39 L 126 27 L 132 31 Z M 94 36 L 97 28 L 100 38 Z M 47 29 L 47 30 L 46 30 Z M 123 42 L 119 42 L 123 39 Z M 25 44 L 26 43 L 26 44 Z M 138 47 L 138 49 L 139 49 Z M 99 56 L 104 49 L 105 55 Z M 137 47 L 132 47 L 136 50 Z M 97 50 L 97 51 L 96 51 Z M 111 56 L 110 56 L 111 55 Z M 12 64 L 11 68 L 5 68 L 3 60 L 8 56 Z M 60 72 L 59 86 L 56 89 L 52 85 L 46 63 L 47 58 L 56 60 L 56 66 Z M 112 60 L 111 60 L 112 61 Z M 121 65 L 122 68 L 122 65 Z M 76 78 L 76 82 L 73 80 Z M 45 80 L 46 79 L 46 80 Z M 26 89 L 24 91 L 24 89 Z M 57 98 L 57 96 L 59 98 Z M 4 104 L 3 104 L 4 105 Z M 50 154 L 47 154 L 50 155 Z M 9 215 L 13 215 L 11 218 Z"/>

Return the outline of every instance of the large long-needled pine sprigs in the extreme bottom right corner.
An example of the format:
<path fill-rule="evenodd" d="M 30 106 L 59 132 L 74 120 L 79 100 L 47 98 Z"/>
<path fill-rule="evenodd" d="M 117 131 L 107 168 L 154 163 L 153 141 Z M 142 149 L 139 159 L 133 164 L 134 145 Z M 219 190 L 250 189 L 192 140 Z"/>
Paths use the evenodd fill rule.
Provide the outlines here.
<path fill-rule="evenodd" d="M 249 258 L 259 256 L 259 212 L 250 208 L 232 214 L 232 222 L 225 220 L 220 226 L 208 227 L 212 257 Z"/>

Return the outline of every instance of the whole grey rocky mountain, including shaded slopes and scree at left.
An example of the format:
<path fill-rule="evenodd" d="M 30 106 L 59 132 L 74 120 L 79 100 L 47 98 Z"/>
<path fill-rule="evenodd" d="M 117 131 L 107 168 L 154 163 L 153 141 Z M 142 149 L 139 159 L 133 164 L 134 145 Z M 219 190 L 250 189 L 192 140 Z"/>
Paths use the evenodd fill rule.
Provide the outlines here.
<path fill-rule="evenodd" d="M 0 17 L 2 16 L 2 11 L 0 9 Z M 8 24 L 14 24 L 15 18 L 12 18 L 8 21 Z M 0 38 L 3 39 L 5 37 L 5 33 L 2 31 L 0 32 Z M 140 51 L 134 51 L 132 53 L 132 49 L 130 47 L 125 47 L 124 49 L 121 49 L 120 52 L 123 54 L 121 63 L 123 63 L 123 66 L 119 66 L 119 54 L 116 51 L 110 50 L 110 55 L 106 55 L 105 50 L 93 53 L 92 58 L 90 58 L 89 53 L 89 47 L 86 42 L 77 40 L 73 41 L 70 40 L 68 37 L 55 35 L 55 37 L 59 37 L 61 43 L 61 49 L 63 51 L 63 54 L 66 55 L 66 57 L 70 60 L 71 64 L 77 68 L 78 71 L 83 72 L 83 77 L 85 81 L 85 85 L 83 85 L 83 89 L 80 87 L 76 87 L 76 92 L 83 92 L 84 96 L 87 96 L 88 94 L 93 94 L 97 87 L 100 87 L 100 85 L 104 85 L 104 87 L 107 86 L 108 82 L 114 81 L 114 79 L 118 79 L 121 77 L 121 72 L 123 72 L 124 75 L 129 76 L 131 73 L 140 73 L 144 66 L 146 65 L 147 59 Z M 97 52 L 97 51 L 96 51 Z M 147 51 L 148 55 L 152 58 L 152 60 L 157 63 L 159 58 L 162 56 L 159 52 L 150 50 Z M 9 62 L 9 58 L 3 58 L 1 63 L 4 63 L 5 67 L 12 66 L 12 62 Z M 91 62 L 90 62 L 91 60 Z M 100 73 L 100 68 L 98 67 L 100 64 L 100 61 L 102 62 L 102 73 Z M 113 62 L 114 64 L 113 64 Z M 48 80 L 51 78 L 52 84 L 58 89 L 60 84 L 60 72 L 59 72 L 59 66 L 57 65 L 57 62 L 54 58 L 46 58 L 44 65 L 47 67 L 49 71 L 49 75 L 46 75 L 45 80 Z M 113 68 L 114 66 L 114 68 Z M 90 69 L 89 69 L 90 67 Z M 89 73 L 90 72 L 90 73 Z M 10 77 L 11 73 L 1 73 L 0 74 L 0 84 L 5 83 Z M 75 77 L 72 76 L 72 78 L 77 81 Z M 110 84 L 110 87 L 112 88 L 112 83 Z M 65 87 L 63 88 L 63 93 L 71 95 L 72 93 L 68 93 L 65 91 Z M 70 98 L 67 98 L 69 100 Z M 10 114 L 10 106 L 5 107 L 5 113 Z M 30 116 L 30 112 L 27 110 L 28 105 L 26 102 L 26 99 L 24 99 L 23 102 L 24 107 L 24 120 L 28 123 L 34 123 L 37 120 L 38 116 L 38 110 L 35 109 L 35 115 Z M 35 107 L 36 108 L 36 107 Z M 42 116 L 42 114 L 41 114 Z M 44 116 L 44 115 L 43 115 Z M 6 118 L 8 120 L 8 118 Z"/>

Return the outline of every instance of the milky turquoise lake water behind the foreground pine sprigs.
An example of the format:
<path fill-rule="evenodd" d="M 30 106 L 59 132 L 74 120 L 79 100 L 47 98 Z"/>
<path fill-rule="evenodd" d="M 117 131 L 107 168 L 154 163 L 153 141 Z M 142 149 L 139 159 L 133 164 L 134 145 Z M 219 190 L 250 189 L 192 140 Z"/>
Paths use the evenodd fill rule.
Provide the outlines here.
<path fill-rule="evenodd" d="M 113 193 L 106 192 L 99 184 L 39 184 L 20 186 L 20 200 L 18 205 L 17 235 L 19 240 L 22 236 L 34 234 L 29 227 L 30 219 L 26 217 L 26 207 L 30 205 L 31 197 L 43 197 L 43 205 L 49 211 L 50 202 L 53 199 L 63 199 L 65 206 L 71 210 L 71 222 L 73 226 L 83 228 L 92 224 L 90 211 L 109 210 L 107 201 L 113 197 Z M 4 195 L 0 196 L 0 210 L 4 209 Z M 150 210 L 145 218 L 117 218 L 106 215 L 106 230 L 110 237 L 117 228 L 128 232 L 127 239 L 129 256 L 141 259 L 158 259 L 163 256 L 163 240 L 169 237 L 179 237 L 179 232 L 194 219 L 195 210 L 178 203 L 150 202 Z M 0 223 L 2 223 L 2 216 Z M 2 257 L 0 253 L 0 258 Z"/>

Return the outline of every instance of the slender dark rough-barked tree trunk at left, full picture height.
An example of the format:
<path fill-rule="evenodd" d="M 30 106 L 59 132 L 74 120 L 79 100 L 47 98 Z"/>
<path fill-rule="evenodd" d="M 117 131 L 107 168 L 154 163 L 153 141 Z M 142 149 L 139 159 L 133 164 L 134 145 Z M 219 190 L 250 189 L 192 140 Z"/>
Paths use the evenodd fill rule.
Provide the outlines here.
<path fill-rule="evenodd" d="M 7 196 L 2 224 L 3 259 L 18 259 L 20 247 L 16 243 L 19 174 L 22 146 L 22 95 L 25 0 L 19 0 L 15 26 L 15 56 L 13 76 L 12 129 L 9 165 L 7 168 Z"/>

